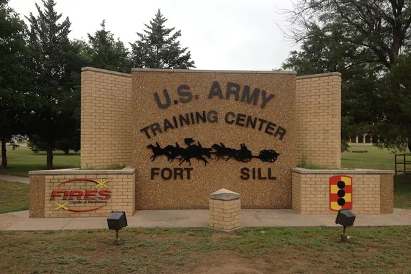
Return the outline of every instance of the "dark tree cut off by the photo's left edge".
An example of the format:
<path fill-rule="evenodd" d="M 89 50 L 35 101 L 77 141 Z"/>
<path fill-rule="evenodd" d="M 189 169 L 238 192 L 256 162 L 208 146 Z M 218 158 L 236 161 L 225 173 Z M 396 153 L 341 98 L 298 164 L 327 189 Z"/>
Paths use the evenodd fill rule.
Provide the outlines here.
<path fill-rule="evenodd" d="M 14 134 L 23 134 L 27 103 L 25 57 L 27 28 L 8 0 L 0 0 L 0 140 L 1 167 L 7 167 L 6 144 Z"/>

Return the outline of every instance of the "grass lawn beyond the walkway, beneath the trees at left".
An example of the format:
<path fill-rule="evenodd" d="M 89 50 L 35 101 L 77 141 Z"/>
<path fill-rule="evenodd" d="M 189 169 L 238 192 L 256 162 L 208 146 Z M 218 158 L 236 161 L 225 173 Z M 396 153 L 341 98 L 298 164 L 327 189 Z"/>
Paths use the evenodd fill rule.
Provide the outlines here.
<path fill-rule="evenodd" d="M 46 169 L 47 154 L 43 152 L 34 153 L 28 147 L 12 149 L 8 147 L 8 169 L 0 169 L 0 173 L 28 176 L 29 171 Z M 53 166 L 55 169 L 69 169 L 80 166 L 80 153 L 71 151 L 64 155 L 62 151 L 54 151 Z"/>

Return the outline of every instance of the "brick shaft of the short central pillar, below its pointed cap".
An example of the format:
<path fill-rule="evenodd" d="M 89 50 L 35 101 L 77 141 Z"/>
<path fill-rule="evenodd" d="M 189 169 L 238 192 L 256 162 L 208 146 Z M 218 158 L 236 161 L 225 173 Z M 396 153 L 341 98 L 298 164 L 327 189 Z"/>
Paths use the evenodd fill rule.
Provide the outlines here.
<path fill-rule="evenodd" d="M 219 229 L 234 229 L 241 226 L 241 201 L 235 199 L 223 201 L 210 199 L 210 227 Z"/>

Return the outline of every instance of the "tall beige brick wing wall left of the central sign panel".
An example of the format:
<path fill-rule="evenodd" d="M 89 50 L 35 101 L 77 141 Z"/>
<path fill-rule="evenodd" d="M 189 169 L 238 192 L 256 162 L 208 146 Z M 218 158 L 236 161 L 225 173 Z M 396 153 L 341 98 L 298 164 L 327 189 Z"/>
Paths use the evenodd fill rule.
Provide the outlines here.
<path fill-rule="evenodd" d="M 82 70 L 82 167 L 131 163 L 132 77 Z"/>

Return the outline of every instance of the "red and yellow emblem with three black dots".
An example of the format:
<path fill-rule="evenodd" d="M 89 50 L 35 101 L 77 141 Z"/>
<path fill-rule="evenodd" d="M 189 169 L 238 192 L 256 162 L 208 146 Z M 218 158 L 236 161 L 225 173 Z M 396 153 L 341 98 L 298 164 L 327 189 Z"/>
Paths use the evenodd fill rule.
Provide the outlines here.
<path fill-rule="evenodd" d="M 353 209 L 353 178 L 342 175 L 329 177 L 329 209 Z"/>

